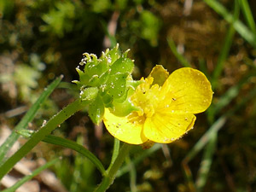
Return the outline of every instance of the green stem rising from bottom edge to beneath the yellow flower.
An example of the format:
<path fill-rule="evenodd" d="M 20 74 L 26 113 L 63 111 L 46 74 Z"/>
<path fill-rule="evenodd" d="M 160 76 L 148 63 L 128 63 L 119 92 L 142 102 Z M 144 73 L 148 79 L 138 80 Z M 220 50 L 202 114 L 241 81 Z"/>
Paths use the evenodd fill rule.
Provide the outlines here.
<path fill-rule="evenodd" d="M 127 154 L 129 154 L 130 149 L 130 144 L 123 144 L 122 148 L 119 151 L 119 155 L 113 162 L 113 166 L 111 166 L 107 175 L 103 177 L 102 183 L 98 185 L 98 187 L 95 189 L 95 192 L 104 192 L 109 188 L 109 186 L 113 183 L 113 180 L 115 179 L 116 173 L 119 171 L 120 166 L 123 165 Z"/>

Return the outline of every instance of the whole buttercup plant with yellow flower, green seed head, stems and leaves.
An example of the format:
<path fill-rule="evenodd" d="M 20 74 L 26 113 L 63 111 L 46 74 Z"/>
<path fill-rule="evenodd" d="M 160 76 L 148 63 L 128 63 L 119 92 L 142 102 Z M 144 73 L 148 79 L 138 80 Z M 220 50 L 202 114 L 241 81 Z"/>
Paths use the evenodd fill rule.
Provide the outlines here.
<path fill-rule="evenodd" d="M 162 66 L 156 66 L 148 78 L 137 81 L 131 77 L 134 62 L 127 57 L 128 50 L 120 53 L 118 48 L 117 44 L 113 49 L 107 49 L 99 58 L 85 53 L 77 67 L 79 80 L 73 81 L 79 86 L 79 98 L 49 119 L 38 131 L 24 130 L 40 103 L 55 89 L 61 78 L 44 90 L 38 102 L 0 147 L 0 179 L 35 145 L 44 141 L 72 148 L 87 157 L 103 177 L 95 191 L 106 191 L 129 154 L 131 144 L 150 148 L 154 143 L 172 143 L 193 128 L 195 113 L 205 111 L 212 102 L 211 84 L 206 76 L 189 67 L 177 69 L 169 75 Z M 85 107 L 88 107 L 90 119 L 96 124 L 103 120 L 108 132 L 116 138 L 108 169 L 78 143 L 50 135 L 58 125 Z M 28 141 L 9 159 L 4 159 L 19 135 L 28 138 Z M 119 140 L 124 142 L 120 149 Z M 49 165 L 55 161 L 50 161 Z"/>

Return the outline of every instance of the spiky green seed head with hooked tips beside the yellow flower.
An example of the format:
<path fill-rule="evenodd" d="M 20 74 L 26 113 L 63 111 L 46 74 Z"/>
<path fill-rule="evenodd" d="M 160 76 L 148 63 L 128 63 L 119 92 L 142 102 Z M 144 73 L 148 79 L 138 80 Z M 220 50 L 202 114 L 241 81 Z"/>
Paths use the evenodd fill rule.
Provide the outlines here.
<path fill-rule="evenodd" d="M 131 73 L 134 63 L 127 58 L 128 50 L 119 52 L 119 44 L 102 52 L 100 58 L 84 53 L 84 58 L 76 68 L 79 81 L 80 99 L 89 105 L 90 119 L 99 124 L 105 108 L 110 108 L 117 116 L 126 116 L 134 110 L 129 97 L 141 81 L 133 80 Z M 80 69 L 84 67 L 84 70 Z"/>

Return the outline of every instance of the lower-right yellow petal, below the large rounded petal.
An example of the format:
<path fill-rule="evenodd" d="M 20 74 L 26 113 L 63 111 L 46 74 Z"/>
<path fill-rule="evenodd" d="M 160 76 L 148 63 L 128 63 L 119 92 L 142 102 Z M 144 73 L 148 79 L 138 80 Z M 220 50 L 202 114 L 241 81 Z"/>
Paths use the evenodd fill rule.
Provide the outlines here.
<path fill-rule="evenodd" d="M 155 143 L 172 143 L 193 128 L 195 115 L 155 113 L 147 118 L 143 127 L 145 137 Z"/>

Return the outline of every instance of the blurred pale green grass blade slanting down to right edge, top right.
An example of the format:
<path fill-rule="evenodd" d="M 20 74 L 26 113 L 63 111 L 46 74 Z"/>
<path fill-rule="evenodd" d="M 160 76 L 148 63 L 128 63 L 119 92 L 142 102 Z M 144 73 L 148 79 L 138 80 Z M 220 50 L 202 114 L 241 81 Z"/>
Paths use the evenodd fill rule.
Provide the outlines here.
<path fill-rule="evenodd" d="M 247 26 L 245 26 L 240 20 L 234 20 L 234 16 L 231 15 L 221 3 L 218 3 L 215 0 L 204 0 L 204 2 L 207 3 L 207 5 L 215 10 L 219 15 L 222 15 L 224 20 L 234 26 L 236 32 L 238 32 L 242 38 L 256 48 L 256 37 L 253 32 L 247 28 Z"/>

